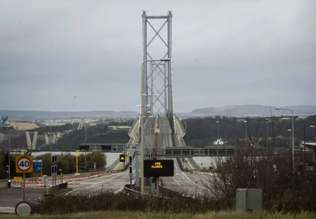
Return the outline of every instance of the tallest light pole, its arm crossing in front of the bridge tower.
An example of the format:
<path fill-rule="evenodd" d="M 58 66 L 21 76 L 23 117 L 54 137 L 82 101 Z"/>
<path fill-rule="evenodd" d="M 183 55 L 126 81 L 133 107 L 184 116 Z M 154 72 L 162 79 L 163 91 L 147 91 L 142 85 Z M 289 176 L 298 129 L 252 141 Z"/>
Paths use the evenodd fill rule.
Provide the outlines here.
<path fill-rule="evenodd" d="M 140 123 L 141 123 L 141 139 L 140 139 L 140 175 L 141 175 L 141 181 L 140 181 L 140 186 L 141 186 L 141 195 L 144 194 L 144 189 L 145 189 L 145 178 L 144 178 L 144 150 L 145 150 L 145 134 L 144 134 L 144 63 L 145 62 L 154 62 L 154 61 L 163 61 L 163 62 L 169 62 L 171 59 L 170 58 L 162 58 L 162 59 L 154 59 L 154 60 L 145 60 L 142 63 L 142 77 L 141 77 L 141 110 L 140 110 Z"/>

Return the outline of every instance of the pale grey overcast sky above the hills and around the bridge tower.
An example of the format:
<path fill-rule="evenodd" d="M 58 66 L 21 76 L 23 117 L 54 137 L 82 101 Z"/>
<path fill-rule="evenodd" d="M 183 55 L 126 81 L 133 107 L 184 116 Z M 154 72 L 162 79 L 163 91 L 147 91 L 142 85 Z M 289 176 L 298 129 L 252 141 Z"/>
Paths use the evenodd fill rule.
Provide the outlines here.
<path fill-rule="evenodd" d="M 176 112 L 315 105 L 315 0 L 0 0 L 0 109 L 137 111 L 142 10 L 172 10 Z"/>

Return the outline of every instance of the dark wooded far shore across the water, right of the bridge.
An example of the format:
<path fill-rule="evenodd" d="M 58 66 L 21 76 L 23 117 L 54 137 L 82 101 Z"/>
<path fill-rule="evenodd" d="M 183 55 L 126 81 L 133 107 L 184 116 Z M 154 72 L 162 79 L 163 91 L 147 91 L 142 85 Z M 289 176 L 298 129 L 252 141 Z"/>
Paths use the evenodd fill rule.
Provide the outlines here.
<path fill-rule="evenodd" d="M 243 119 L 247 123 L 243 122 Z M 187 126 L 187 134 L 185 136 L 185 142 L 188 146 L 193 147 L 204 147 L 207 145 L 212 145 L 213 141 L 217 139 L 218 136 L 218 124 L 219 121 L 219 135 L 225 141 L 227 140 L 230 144 L 236 144 L 237 139 L 245 138 L 246 128 L 247 135 L 251 136 L 256 132 L 257 137 L 267 138 L 267 124 L 269 122 L 269 137 L 273 135 L 273 130 L 281 126 L 278 132 L 278 137 L 275 138 L 276 145 L 278 147 L 288 147 L 290 143 L 290 132 L 292 129 L 292 119 L 282 120 L 281 117 L 271 117 L 271 118 L 234 118 L 234 117 L 208 117 L 208 118 L 192 118 L 182 120 L 183 127 Z M 295 144 L 298 145 L 300 140 L 304 139 L 304 125 L 306 124 L 316 124 L 316 115 L 310 116 L 305 120 L 296 120 L 294 118 L 294 137 Z M 257 128 L 257 124 L 260 123 L 260 127 Z M 186 125 L 185 125 L 186 124 Z M 313 129 L 307 127 L 306 140 L 313 140 Z"/>

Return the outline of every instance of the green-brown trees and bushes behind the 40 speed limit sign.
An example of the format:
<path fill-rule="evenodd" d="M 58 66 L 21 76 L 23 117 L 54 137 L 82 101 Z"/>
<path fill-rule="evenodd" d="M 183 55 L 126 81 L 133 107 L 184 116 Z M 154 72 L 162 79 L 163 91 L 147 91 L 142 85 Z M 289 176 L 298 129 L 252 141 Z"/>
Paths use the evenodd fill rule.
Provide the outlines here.
<path fill-rule="evenodd" d="M 0 179 L 6 179 L 5 166 L 8 165 L 8 152 L 0 152 Z M 11 154 L 11 177 L 21 176 L 21 174 L 15 173 L 15 154 Z M 42 160 L 42 174 L 50 175 L 51 172 L 51 156 L 50 153 L 45 153 L 34 157 L 33 159 Z M 63 174 L 75 174 L 76 173 L 76 156 L 70 153 L 62 153 L 57 158 L 57 168 L 63 170 Z M 94 162 L 97 168 L 103 168 L 104 164 L 107 164 L 106 155 L 101 152 L 93 152 L 86 154 L 87 170 L 94 167 Z M 85 155 L 80 154 L 78 157 L 78 163 L 85 163 Z M 79 173 L 85 172 L 85 169 L 79 169 Z M 26 177 L 40 176 L 40 172 L 26 173 Z"/>

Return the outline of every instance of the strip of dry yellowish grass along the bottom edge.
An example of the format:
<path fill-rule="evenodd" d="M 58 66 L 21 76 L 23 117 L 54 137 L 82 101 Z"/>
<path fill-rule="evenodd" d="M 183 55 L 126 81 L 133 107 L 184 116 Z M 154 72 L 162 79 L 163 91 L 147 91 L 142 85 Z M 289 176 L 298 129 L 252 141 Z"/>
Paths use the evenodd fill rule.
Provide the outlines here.
<path fill-rule="evenodd" d="M 1 219 L 21 218 L 15 215 L 3 215 Z M 88 212 L 66 215 L 32 215 L 24 219 L 315 219 L 315 213 L 301 214 L 243 214 L 238 212 L 208 212 L 205 214 L 172 214 L 155 212 Z"/>

